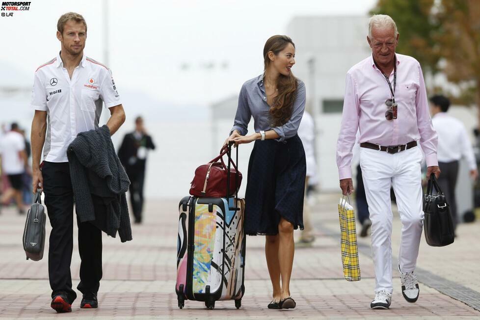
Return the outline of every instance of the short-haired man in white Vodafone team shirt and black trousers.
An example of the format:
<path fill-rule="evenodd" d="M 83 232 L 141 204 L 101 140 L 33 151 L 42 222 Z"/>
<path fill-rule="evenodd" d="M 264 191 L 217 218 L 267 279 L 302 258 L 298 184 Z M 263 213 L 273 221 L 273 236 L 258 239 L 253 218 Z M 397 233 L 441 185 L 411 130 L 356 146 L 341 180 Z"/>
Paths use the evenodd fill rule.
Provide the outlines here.
<path fill-rule="evenodd" d="M 70 263 L 73 249 L 73 189 L 67 147 L 78 133 L 99 127 L 102 105 L 110 111 L 107 126 L 115 133 L 125 121 L 111 71 L 83 53 L 87 26 L 78 13 L 69 12 L 57 23 L 61 51 L 35 72 L 31 107 L 33 192 L 43 187 L 52 225 L 49 242 L 51 307 L 70 312 L 77 297 L 72 289 Z M 47 125 L 48 124 L 48 125 Z M 40 164 L 43 148 L 43 162 Z M 95 212 L 107 210 L 95 203 Z M 77 219 L 81 258 L 80 308 L 96 308 L 102 278 L 102 232 L 90 222 Z"/>

